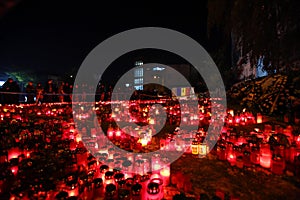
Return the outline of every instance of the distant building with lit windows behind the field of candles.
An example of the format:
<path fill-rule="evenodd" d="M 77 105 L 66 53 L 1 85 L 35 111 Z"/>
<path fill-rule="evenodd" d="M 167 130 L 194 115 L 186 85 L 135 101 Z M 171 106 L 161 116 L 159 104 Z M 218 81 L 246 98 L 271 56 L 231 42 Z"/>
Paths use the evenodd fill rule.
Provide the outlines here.
<path fill-rule="evenodd" d="M 136 61 L 134 66 L 119 79 L 116 87 L 120 91 L 126 91 L 126 88 L 129 88 L 130 91 L 145 90 L 164 93 L 168 88 L 175 96 L 194 95 L 194 88 L 188 82 L 192 74 L 192 67 L 189 64 L 167 66 Z"/>

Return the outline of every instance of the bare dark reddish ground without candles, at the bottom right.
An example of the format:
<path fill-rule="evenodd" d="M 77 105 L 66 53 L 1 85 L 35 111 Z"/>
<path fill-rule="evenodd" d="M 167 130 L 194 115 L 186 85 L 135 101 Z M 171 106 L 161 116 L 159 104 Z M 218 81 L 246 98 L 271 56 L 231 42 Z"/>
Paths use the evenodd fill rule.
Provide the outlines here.
<path fill-rule="evenodd" d="M 221 190 L 227 197 L 243 200 L 291 200 L 300 197 L 300 181 L 295 177 L 276 176 L 258 169 L 242 170 L 218 161 L 212 155 L 203 159 L 184 155 L 171 167 L 173 172 L 181 171 L 185 179 L 190 179 L 193 186 L 191 193 L 196 196 L 206 193 L 212 197 L 216 190 Z"/>

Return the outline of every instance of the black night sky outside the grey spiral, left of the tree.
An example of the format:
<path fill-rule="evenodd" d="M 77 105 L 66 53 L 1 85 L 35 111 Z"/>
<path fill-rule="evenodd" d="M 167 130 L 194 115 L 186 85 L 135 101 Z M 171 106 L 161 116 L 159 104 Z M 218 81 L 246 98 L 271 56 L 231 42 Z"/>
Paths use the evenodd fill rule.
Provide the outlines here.
<path fill-rule="evenodd" d="M 205 0 L 23 0 L 0 18 L 0 69 L 75 73 L 101 41 L 143 26 L 178 30 L 204 44 L 206 15 Z"/>

